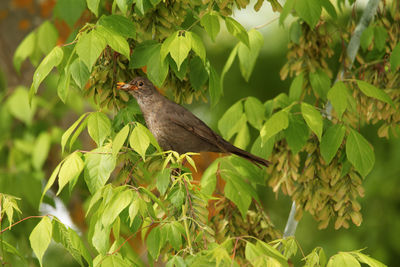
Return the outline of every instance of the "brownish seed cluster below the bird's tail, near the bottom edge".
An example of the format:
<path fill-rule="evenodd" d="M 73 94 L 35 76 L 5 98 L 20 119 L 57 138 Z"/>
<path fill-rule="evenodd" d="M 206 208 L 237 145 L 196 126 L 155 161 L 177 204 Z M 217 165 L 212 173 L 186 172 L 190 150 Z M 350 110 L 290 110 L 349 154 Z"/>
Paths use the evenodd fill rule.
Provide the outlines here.
<path fill-rule="evenodd" d="M 246 219 L 243 219 L 239 210 L 228 199 L 221 198 L 214 204 L 216 215 L 211 218 L 211 224 L 217 243 L 223 242 L 227 237 L 256 236 L 265 242 L 282 237 L 264 210 L 257 205 L 252 205 L 247 211 Z M 245 246 L 244 242 L 238 242 L 236 257 L 245 258 Z"/>

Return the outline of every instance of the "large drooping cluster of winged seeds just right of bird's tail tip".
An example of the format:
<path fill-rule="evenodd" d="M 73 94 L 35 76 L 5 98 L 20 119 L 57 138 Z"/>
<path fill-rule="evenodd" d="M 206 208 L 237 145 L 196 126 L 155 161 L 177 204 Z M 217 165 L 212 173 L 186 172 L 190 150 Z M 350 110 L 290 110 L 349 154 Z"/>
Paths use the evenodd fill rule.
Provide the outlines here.
<path fill-rule="evenodd" d="M 316 139 L 316 138 L 315 138 Z M 275 145 L 269 185 L 296 201 L 296 219 L 309 212 L 320 228 L 335 220 L 335 228 L 347 228 L 349 220 L 360 225 L 362 221 L 357 198 L 363 196 L 362 179 L 354 168 L 344 161 L 345 150 L 339 149 L 327 165 L 318 149 L 317 140 L 310 139 L 302 152 L 306 155 L 300 164 L 299 154 L 293 155 L 284 141 Z"/>

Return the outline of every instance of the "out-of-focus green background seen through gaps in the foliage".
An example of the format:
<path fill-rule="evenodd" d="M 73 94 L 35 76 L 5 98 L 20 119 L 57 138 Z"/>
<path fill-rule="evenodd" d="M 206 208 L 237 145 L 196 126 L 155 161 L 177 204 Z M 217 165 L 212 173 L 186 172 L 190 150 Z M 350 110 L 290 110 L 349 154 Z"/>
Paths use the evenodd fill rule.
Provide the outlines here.
<path fill-rule="evenodd" d="M 24 64 L 21 76 L 16 74 L 12 68 L 12 53 L 29 30 L 21 32 L 13 31 L 12 27 L 10 28 L 9 25 L 15 23 L 14 20 L 16 18 L 23 16 L 21 12 L 25 12 L 18 9 L 10 9 L 7 3 L 10 4 L 11 2 L 2 1 L 0 5 L 0 8 L 8 9 L 11 12 L 9 13 L 9 19 L 3 19 L 1 21 L 2 25 L 0 25 L 0 50 L 2 50 L 0 58 L 0 105 L 3 107 L 6 103 L 6 97 L 18 85 L 30 86 L 33 70 L 27 62 Z M 287 93 L 290 85 L 290 79 L 282 81 L 279 75 L 279 71 L 286 61 L 287 43 L 289 41 L 288 27 L 280 27 L 278 25 L 276 20 L 278 14 L 274 14 L 269 9 L 269 5 L 264 5 L 258 13 L 252 10 L 250 6 L 247 10 L 235 12 L 235 18 L 244 24 L 247 29 L 271 22 L 260 30 L 264 35 L 264 46 L 250 81 L 248 83 L 244 81 L 236 60 L 225 76 L 224 96 L 216 107 L 211 108 L 209 104 L 200 102 L 195 102 L 188 106 L 190 110 L 215 130 L 217 130 L 217 122 L 223 113 L 236 101 L 247 96 L 255 96 L 265 102 L 282 92 Z M 15 13 L 14 17 L 12 16 L 13 12 Z M 34 26 L 32 25 L 32 27 Z M 5 38 L 6 35 L 11 35 L 11 38 Z M 226 31 L 223 31 L 218 36 L 215 43 L 211 43 L 206 36 L 204 38 L 208 46 L 207 53 L 209 58 L 212 59 L 211 63 L 220 73 L 236 41 L 229 37 Z M 3 118 L 0 119 L 0 130 L 8 130 L 10 132 L 2 132 L 0 137 L 26 139 L 26 136 L 35 136 L 38 131 L 50 129 L 53 125 L 57 125 L 60 128 L 49 130 L 52 133 L 52 137 L 57 139 L 60 137 L 61 130 L 65 130 L 71 122 L 76 120 L 77 116 L 81 115 L 85 109 L 90 108 L 77 95 L 73 95 L 67 105 L 58 101 L 55 89 L 56 78 L 55 76 L 49 77 L 46 81 L 45 89 L 40 93 L 46 102 L 46 104 L 42 103 L 40 108 L 46 110 L 47 107 L 48 110 L 49 105 L 51 105 L 51 109 L 50 111 L 48 110 L 48 113 L 36 115 L 35 120 L 37 123 L 34 123 L 36 128 L 27 128 L 21 123 L 13 124 L 12 128 L 7 128 L 4 127 L 5 120 Z M 400 255 L 400 140 L 378 138 L 376 135 L 377 128 L 375 126 L 365 126 L 361 129 L 362 134 L 373 144 L 376 156 L 375 167 L 364 181 L 365 197 L 360 200 L 363 214 L 361 226 L 356 227 L 350 224 L 349 229 L 334 230 L 333 225 L 330 224 L 327 229 L 318 230 L 317 223 L 310 215 L 305 213 L 296 232 L 296 238 L 305 254 L 308 254 L 317 246 L 324 248 L 328 257 L 338 251 L 365 248 L 366 254 L 384 262 L 388 266 L 398 265 Z M 252 135 L 255 137 L 254 132 Z M 4 143 L 7 143 L 7 141 L 4 141 Z M 56 144 L 57 142 L 54 143 Z M 49 176 L 54 164 L 57 163 L 56 160 L 50 159 L 47 161 L 45 172 L 15 172 L 15 170 L 10 170 L 9 168 L 10 164 L 7 159 L 9 155 L 6 154 L 5 147 L 6 145 L 4 144 L 0 146 L 0 179 L 2 180 L 0 182 L 0 192 L 6 192 L 7 185 L 10 185 L 10 183 L 22 183 L 20 192 L 14 192 L 17 196 L 18 194 L 24 194 L 26 190 L 28 190 L 25 192 L 27 195 L 40 194 L 40 180 Z M 59 155 L 57 153 L 59 153 L 59 148 L 52 149 L 50 157 L 56 155 L 55 157 L 57 158 Z M 11 182 L 10 179 L 13 179 L 13 181 Z M 27 184 L 28 181 L 30 182 Z M 265 187 L 262 193 L 267 213 L 277 228 L 283 231 L 291 207 L 291 200 L 282 194 L 275 195 L 269 187 Z M 22 202 L 24 202 L 24 199 Z M 23 207 L 24 213 L 34 213 L 34 209 L 34 205 Z M 26 231 L 26 228 L 31 228 L 35 223 L 33 221 L 26 222 L 13 228 L 13 231 L 22 234 Z M 27 236 L 20 236 L 20 238 L 27 239 Z M 301 258 L 301 252 L 298 251 L 297 261 L 300 261 Z M 57 246 L 53 246 L 46 253 L 45 262 L 56 264 L 49 266 L 75 265 L 75 262 L 67 252 Z M 296 262 L 295 266 L 297 266 Z"/>

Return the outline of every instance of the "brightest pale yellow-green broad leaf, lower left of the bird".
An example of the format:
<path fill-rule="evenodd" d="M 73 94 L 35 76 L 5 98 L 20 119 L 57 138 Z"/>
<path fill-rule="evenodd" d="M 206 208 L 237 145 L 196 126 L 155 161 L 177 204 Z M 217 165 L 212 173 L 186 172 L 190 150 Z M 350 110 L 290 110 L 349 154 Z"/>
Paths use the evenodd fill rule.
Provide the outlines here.
<path fill-rule="evenodd" d="M 68 182 L 71 182 L 81 174 L 84 165 L 81 153 L 79 152 L 74 152 L 65 159 L 64 164 L 61 166 L 60 173 L 58 174 L 57 195 L 60 194 L 61 190 Z"/>

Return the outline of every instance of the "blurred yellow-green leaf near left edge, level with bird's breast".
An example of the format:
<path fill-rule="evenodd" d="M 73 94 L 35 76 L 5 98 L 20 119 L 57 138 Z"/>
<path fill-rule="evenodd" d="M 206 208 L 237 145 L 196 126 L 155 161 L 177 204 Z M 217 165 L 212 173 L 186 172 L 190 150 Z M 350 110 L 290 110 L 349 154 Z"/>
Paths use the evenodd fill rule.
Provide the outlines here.
<path fill-rule="evenodd" d="M 36 112 L 36 103 L 29 105 L 28 91 L 25 87 L 18 86 L 7 99 L 7 108 L 13 117 L 31 125 Z"/>

